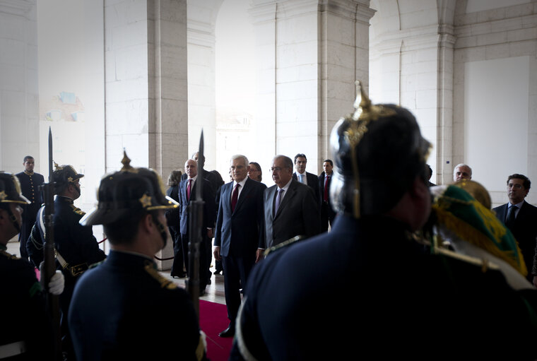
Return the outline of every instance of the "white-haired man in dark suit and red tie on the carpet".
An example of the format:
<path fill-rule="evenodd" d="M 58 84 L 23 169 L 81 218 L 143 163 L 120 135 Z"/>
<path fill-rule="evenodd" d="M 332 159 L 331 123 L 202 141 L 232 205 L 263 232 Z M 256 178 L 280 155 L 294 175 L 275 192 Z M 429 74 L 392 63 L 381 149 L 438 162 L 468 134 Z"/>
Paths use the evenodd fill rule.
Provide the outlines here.
<path fill-rule="evenodd" d="M 244 155 L 234 155 L 230 164 L 233 182 L 224 184 L 220 190 L 214 238 L 214 258 L 221 259 L 224 268 L 225 304 L 230 319 L 228 329 L 220 332 L 220 337 L 235 335 L 240 289 L 244 290 L 264 247 L 263 192 L 266 185 L 247 177 L 249 163 Z"/>

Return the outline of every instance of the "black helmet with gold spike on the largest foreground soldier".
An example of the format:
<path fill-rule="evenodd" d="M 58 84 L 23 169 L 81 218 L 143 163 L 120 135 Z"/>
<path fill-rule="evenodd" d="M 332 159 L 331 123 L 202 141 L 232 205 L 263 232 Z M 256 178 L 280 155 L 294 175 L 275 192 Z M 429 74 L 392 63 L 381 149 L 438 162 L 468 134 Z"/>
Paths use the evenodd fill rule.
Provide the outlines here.
<path fill-rule="evenodd" d="M 354 218 L 389 211 L 416 176 L 427 182 L 430 143 L 411 112 L 393 104 L 373 105 L 356 81 L 355 111 L 330 135 L 334 158 L 331 204 Z"/>

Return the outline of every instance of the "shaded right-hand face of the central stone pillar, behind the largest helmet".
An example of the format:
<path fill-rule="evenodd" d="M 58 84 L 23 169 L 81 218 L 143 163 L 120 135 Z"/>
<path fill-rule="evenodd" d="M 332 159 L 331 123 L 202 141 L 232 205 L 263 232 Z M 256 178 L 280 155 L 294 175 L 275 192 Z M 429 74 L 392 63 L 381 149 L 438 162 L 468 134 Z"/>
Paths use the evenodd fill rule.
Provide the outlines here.
<path fill-rule="evenodd" d="M 355 81 L 369 84 L 369 23 L 374 11 L 361 3 L 332 0 L 319 6 L 319 174 L 322 161 L 332 158 L 332 128 L 353 112 Z"/>

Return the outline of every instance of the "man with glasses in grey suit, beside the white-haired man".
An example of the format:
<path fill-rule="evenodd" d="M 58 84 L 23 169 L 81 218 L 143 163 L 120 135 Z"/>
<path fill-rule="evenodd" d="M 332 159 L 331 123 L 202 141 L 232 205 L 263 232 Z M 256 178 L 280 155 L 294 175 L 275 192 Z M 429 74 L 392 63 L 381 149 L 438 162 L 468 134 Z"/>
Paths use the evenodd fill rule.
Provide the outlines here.
<path fill-rule="evenodd" d="M 318 198 L 311 187 L 293 179 L 291 158 L 276 155 L 271 172 L 276 184 L 264 192 L 266 248 L 295 236 L 317 235 L 320 232 Z"/>

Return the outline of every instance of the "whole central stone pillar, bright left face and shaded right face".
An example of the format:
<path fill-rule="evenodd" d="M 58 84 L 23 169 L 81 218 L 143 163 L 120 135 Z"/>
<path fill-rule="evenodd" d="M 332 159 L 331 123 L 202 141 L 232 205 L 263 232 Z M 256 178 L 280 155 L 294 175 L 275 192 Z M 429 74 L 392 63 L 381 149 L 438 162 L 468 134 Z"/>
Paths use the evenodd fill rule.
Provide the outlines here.
<path fill-rule="evenodd" d="M 374 12 L 366 2 L 253 2 L 256 119 L 267 153 L 291 158 L 305 153 L 307 170 L 321 172 L 332 127 L 353 109 L 355 80 L 367 83 L 368 24 Z"/>

